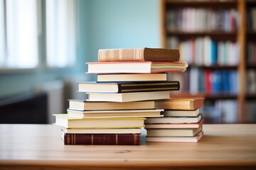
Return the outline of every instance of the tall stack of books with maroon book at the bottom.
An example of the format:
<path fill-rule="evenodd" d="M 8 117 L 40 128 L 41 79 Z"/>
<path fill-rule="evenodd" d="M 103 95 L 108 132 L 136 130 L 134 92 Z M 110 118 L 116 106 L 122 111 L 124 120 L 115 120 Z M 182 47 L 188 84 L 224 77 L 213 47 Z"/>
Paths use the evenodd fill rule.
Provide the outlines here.
<path fill-rule="evenodd" d="M 179 51 L 156 48 L 102 49 L 87 62 L 97 81 L 78 82 L 85 100 L 69 100 L 68 114 L 55 114 L 65 145 L 139 145 L 144 120 L 162 117 L 155 101 L 179 90 L 167 72 L 184 72 Z"/>

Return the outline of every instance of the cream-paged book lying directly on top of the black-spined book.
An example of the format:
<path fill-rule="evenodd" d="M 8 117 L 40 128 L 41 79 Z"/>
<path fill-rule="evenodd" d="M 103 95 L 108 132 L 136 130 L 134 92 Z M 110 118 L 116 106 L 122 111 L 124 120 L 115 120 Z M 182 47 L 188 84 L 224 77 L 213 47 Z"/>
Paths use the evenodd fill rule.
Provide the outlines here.
<path fill-rule="evenodd" d="M 97 74 L 98 82 L 105 81 L 167 81 L 166 73 L 158 74 Z"/>

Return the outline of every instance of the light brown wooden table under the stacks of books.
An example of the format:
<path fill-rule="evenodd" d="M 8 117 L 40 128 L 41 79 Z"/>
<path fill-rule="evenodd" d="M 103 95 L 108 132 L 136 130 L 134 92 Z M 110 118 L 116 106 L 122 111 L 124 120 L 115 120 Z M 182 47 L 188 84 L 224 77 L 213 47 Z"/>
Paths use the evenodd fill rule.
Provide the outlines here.
<path fill-rule="evenodd" d="M 0 125 L 0 169 L 256 169 L 256 124 L 203 129 L 199 143 L 104 146 L 63 145 L 56 125 Z"/>

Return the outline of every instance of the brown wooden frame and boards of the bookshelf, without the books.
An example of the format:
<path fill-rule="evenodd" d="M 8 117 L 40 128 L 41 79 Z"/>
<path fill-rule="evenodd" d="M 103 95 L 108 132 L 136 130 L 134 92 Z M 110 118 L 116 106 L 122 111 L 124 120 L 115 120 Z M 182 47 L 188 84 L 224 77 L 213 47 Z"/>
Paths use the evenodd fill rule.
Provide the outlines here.
<path fill-rule="evenodd" d="M 178 0 L 162 0 L 162 45 L 166 47 L 166 40 L 172 40 L 171 37 L 176 37 L 179 41 L 186 41 L 186 40 L 194 40 L 195 38 L 201 38 L 205 36 L 209 36 L 211 40 L 215 42 L 223 42 L 223 41 L 230 41 L 230 42 L 238 42 L 240 46 L 240 55 L 239 55 L 239 63 L 235 66 L 220 66 L 220 65 L 211 65 L 211 66 L 204 66 L 204 65 L 196 65 L 196 64 L 189 64 L 189 68 L 199 68 L 199 69 L 210 69 L 210 70 L 235 70 L 238 73 L 239 81 L 237 86 L 238 94 L 189 94 L 189 93 L 182 93 L 182 94 L 171 94 L 171 96 L 175 97 L 204 97 L 210 101 L 217 101 L 217 100 L 235 100 L 238 103 L 238 123 L 245 123 L 246 113 L 245 113 L 245 102 L 247 98 L 256 98 L 256 95 L 247 96 L 245 94 L 245 75 L 246 70 L 248 68 L 256 68 L 256 64 L 246 64 L 246 41 L 247 40 L 256 40 L 256 31 L 255 30 L 247 30 L 246 28 L 246 11 L 247 8 L 250 6 L 256 6 L 256 1 L 246 1 L 246 0 L 227 0 L 227 1 L 178 1 Z M 204 8 L 206 10 L 213 8 L 214 10 L 227 9 L 231 10 L 235 8 L 239 13 L 239 26 L 238 30 L 234 32 L 225 32 L 225 31 L 200 31 L 200 32 L 184 32 L 181 30 L 170 30 L 167 27 L 166 23 L 166 14 L 168 11 L 171 10 L 183 10 L 183 8 Z M 175 18 L 174 18 L 175 19 Z M 171 25 L 172 26 L 172 25 Z M 175 28 L 175 27 L 174 27 Z M 186 29 L 184 29 L 186 30 Z M 168 39 L 170 38 L 170 39 Z M 175 39 L 174 39 L 175 40 Z M 170 42 L 168 42 L 170 43 Z M 186 53 L 183 53 L 186 54 Z M 196 56 L 196 55 L 195 55 Z M 185 75 L 185 74 L 184 74 Z M 186 74 L 188 77 L 188 74 Z M 188 77 L 189 78 L 189 77 Z M 187 82 L 188 81 L 188 82 Z M 189 83 L 189 79 L 186 83 Z"/>

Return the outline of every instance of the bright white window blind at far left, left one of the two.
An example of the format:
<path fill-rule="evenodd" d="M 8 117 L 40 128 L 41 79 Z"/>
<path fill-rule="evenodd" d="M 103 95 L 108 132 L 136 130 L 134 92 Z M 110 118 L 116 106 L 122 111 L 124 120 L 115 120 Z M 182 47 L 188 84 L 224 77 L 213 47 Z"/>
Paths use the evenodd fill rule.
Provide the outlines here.
<path fill-rule="evenodd" d="M 38 65 L 36 3 L 35 0 L 1 0 L 1 68 L 34 68 Z"/>

